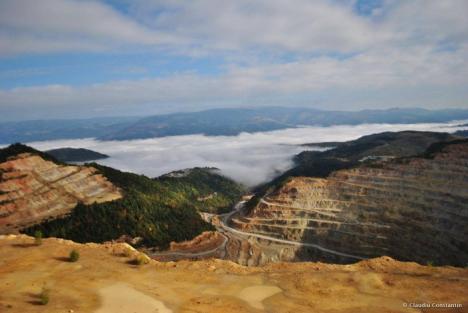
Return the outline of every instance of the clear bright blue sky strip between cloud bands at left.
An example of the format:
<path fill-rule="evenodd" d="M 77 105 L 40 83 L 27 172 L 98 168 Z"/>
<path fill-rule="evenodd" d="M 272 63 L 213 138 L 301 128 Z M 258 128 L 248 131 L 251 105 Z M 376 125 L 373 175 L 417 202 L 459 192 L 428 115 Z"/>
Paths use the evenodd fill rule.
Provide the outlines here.
<path fill-rule="evenodd" d="M 3 88 L 50 84 L 85 86 L 111 80 L 167 77 L 185 71 L 216 75 L 222 71 L 223 64 L 217 57 L 168 56 L 145 51 L 28 54 L 0 60 Z"/>

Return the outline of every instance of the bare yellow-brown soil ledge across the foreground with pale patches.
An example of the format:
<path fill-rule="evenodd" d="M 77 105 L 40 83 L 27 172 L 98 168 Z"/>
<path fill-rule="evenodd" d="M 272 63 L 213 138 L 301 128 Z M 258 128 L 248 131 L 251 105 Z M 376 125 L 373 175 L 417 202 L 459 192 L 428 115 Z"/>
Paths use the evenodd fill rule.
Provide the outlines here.
<path fill-rule="evenodd" d="M 69 262 L 76 249 L 80 258 Z M 0 236 L 0 312 L 468 312 L 468 269 L 387 257 L 353 265 L 132 262 L 125 244 Z M 144 262 L 143 262 L 144 263 Z M 40 294 L 48 290 L 49 302 Z M 414 306 L 458 306 L 416 308 Z M 461 306 L 461 307 L 460 307 Z"/>

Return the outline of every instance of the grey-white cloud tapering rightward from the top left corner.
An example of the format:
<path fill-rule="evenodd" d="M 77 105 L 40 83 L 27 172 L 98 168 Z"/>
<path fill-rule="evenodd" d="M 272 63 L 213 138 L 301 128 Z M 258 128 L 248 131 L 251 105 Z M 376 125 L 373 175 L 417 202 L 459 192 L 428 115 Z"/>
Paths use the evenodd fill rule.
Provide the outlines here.
<path fill-rule="evenodd" d="M 0 2 L 0 53 L 102 51 L 124 44 L 168 43 L 150 30 L 95 1 L 4 0 Z"/>

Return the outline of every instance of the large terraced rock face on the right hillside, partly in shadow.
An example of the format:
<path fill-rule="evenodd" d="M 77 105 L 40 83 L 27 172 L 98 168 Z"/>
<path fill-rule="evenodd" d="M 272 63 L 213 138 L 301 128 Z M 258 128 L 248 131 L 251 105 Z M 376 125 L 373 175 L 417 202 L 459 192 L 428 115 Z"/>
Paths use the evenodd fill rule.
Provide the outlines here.
<path fill-rule="evenodd" d="M 234 226 L 300 247 L 296 260 L 351 262 L 389 255 L 421 263 L 468 264 L 468 142 L 407 158 L 296 177 Z M 281 259 L 281 258 L 279 258 Z"/>

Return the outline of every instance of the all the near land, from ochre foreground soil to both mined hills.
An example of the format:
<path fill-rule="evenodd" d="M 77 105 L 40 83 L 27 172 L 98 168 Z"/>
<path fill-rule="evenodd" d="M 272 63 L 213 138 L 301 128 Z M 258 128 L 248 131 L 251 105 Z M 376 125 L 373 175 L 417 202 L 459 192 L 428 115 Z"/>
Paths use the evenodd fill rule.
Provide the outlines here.
<path fill-rule="evenodd" d="M 47 290 L 47 312 L 463 312 L 468 141 L 333 145 L 250 190 L 216 168 L 149 178 L 2 149 L 0 310 L 42 312 Z"/>

